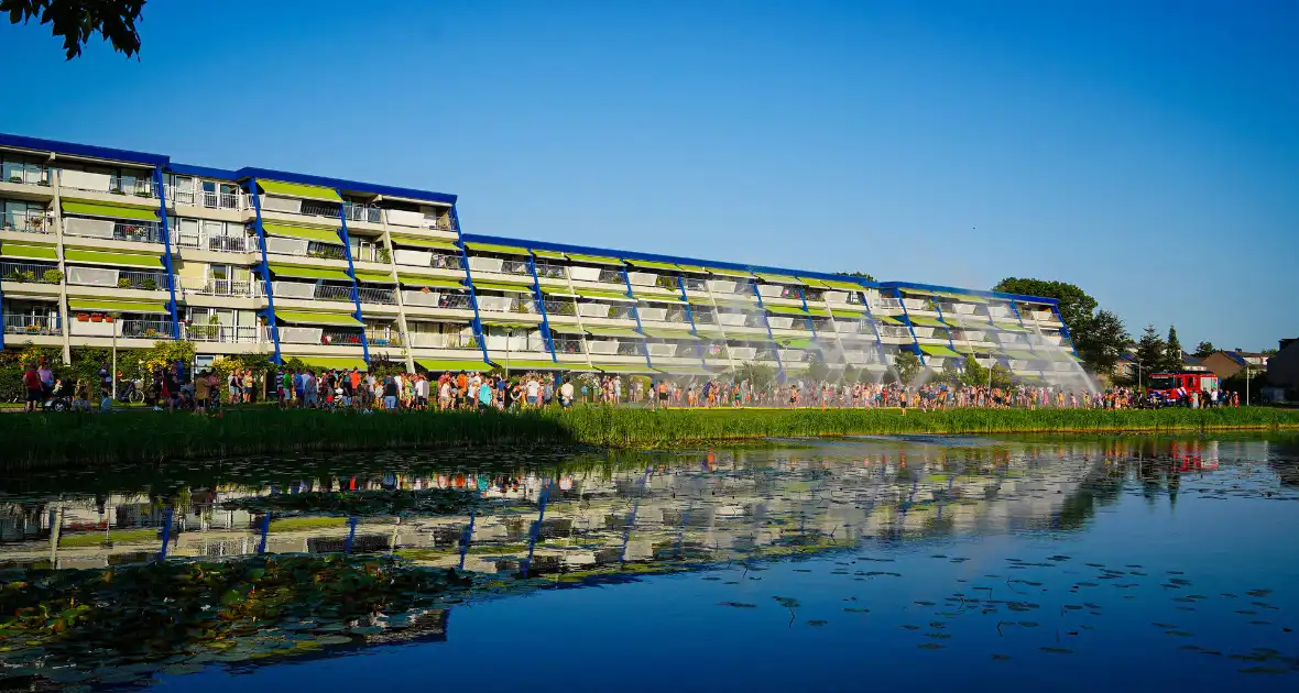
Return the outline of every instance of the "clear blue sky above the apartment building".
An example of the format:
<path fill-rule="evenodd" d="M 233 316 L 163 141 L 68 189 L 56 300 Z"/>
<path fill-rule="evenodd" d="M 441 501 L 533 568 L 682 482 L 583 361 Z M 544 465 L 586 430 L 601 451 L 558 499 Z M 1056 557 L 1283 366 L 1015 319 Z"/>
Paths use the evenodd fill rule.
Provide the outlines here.
<path fill-rule="evenodd" d="M 370 5 L 155 0 L 138 62 L 4 22 L 0 131 L 452 192 L 477 234 L 1061 279 L 1187 348 L 1299 336 L 1295 3 Z"/>

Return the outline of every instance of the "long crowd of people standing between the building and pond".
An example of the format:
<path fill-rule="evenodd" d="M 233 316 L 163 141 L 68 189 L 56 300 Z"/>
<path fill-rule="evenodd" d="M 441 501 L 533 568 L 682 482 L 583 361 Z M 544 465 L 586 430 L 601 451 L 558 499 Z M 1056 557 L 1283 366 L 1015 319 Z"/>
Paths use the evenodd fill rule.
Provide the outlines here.
<path fill-rule="evenodd" d="M 283 409 L 452 410 L 530 409 L 574 404 L 639 405 L 660 407 L 948 407 L 1022 409 L 1146 409 L 1169 406 L 1167 395 L 1131 388 L 1103 392 L 1055 387 L 974 387 L 946 382 L 904 387 L 899 383 L 786 380 L 761 387 L 748 380 L 722 378 L 618 376 L 551 372 L 511 374 L 479 371 L 408 372 L 375 375 L 351 370 L 281 369 L 259 374 L 234 370 L 197 372 L 174 363 L 156 369 L 147 379 L 118 376 L 118 391 L 105 365 L 97 378 L 81 378 L 71 392 L 44 361 L 23 374 L 26 410 L 66 397 L 69 409 L 110 409 L 114 400 L 129 401 L 129 391 L 156 410 L 216 410 L 222 405 L 273 402 Z M 1178 406 L 1239 406 L 1239 396 L 1225 391 L 1177 393 Z M 97 404 L 96 404 L 97 402 Z"/>

